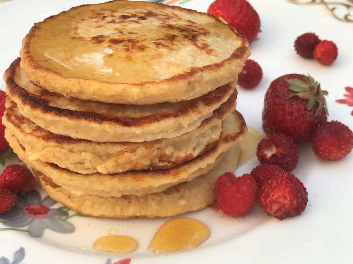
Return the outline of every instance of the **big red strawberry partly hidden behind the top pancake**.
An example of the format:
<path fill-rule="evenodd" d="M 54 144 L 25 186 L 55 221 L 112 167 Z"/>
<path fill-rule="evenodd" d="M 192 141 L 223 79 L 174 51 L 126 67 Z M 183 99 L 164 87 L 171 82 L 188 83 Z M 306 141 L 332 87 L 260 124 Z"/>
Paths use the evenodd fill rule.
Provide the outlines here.
<path fill-rule="evenodd" d="M 246 0 L 216 0 L 207 13 L 226 20 L 249 44 L 256 39 L 260 30 L 259 15 Z"/>

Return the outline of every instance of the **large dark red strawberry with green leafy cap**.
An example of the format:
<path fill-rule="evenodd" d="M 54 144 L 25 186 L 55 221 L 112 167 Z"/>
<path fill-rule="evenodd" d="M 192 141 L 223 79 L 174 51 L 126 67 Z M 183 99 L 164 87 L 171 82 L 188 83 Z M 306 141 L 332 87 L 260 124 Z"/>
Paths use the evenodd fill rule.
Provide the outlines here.
<path fill-rule="evenodd" d="M 265 94 L 263 130 L 267 134 L 283 133 L 296 142 L 310 140 L 315 128 L 327 121 L 327 94 L 310 75 L 277 78 Z"/>

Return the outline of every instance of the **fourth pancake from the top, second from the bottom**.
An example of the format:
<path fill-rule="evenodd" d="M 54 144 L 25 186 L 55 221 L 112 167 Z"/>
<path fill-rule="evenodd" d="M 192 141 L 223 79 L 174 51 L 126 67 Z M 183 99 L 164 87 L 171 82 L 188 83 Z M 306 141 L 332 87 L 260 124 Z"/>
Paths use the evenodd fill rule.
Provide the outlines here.
<path fill-rule="evenodd" d="M 127 171 L 120 174 L 79 174 L 53 163 L 32 161 L 26 155 L 25 148 L 11 136 L 8 129 L 5 130 L 5 138 L 20 159 L 28 166 L 50 175 L 55 184 L 77 194 L 119 197 L 126 194 L 161 192 L 175 184 L 191 181 L 207 173 L 216 165 L 217 158 L 222 153 L 244 138 L 246 131 L 243 117 L 234 112 L 223 122 L 220 140 L 196 158 L 169 169 Z"/>

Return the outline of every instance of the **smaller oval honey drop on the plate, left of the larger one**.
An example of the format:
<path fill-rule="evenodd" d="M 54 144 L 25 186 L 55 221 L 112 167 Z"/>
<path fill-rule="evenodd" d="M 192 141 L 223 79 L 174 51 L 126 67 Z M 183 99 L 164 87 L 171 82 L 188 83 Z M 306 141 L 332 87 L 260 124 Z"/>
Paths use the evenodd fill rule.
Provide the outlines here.
<path fill-rule="evenodd" d="M 137 241 L 126 235 L 108 235 L 98 238 L 93 247 L 98 251 L 131 253 L 137 249 Z"/>

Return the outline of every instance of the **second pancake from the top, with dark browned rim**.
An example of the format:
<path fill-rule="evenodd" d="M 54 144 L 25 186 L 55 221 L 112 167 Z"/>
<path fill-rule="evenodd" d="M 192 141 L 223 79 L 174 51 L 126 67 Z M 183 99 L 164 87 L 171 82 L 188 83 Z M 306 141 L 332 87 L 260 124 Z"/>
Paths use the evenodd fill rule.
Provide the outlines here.
<path fill-rule="evenodd" d="M 157 105 L 114 105 L 65 98 L 29 82 L 16 59 L 4 74 L 6 93 L 24 117 L 64 136 L 95 142 L 143 142 L 195 130 L 222 104 L 234 108 L 236 82 L 199 98 Z"/>

